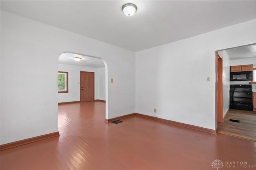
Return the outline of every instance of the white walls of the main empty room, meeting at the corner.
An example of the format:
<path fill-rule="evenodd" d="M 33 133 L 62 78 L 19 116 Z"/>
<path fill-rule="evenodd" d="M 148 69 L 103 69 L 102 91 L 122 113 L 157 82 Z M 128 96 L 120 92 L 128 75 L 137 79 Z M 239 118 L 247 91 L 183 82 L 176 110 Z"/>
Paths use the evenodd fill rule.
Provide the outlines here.
<path fill-rule="evenodd" d="M 1 11 L 0 144 L 58 130 L 56 74 L 66 51 L 106 61 L 107 119 L 136 111 L 215 129 L 214 51 L 255 43 L 255 23 L 139 51 L 135 67 L 132 51 Z"/>

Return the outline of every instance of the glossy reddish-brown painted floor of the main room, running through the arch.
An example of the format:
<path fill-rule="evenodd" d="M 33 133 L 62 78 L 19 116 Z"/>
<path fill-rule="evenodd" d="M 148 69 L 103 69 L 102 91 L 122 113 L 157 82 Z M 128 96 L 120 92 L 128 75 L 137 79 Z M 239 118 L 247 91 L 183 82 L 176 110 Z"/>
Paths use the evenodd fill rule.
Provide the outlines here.
<path fill-rule="evenodd" d="M 256 165 L 250 140 L 142 117 L 106 123 L 100 101 L 59 105 L 58 113 L 60 136 L 2 151 L 1 170 L 213 170 L 216 159 L 222 170 L 232 169 L 230 161 Z"/>

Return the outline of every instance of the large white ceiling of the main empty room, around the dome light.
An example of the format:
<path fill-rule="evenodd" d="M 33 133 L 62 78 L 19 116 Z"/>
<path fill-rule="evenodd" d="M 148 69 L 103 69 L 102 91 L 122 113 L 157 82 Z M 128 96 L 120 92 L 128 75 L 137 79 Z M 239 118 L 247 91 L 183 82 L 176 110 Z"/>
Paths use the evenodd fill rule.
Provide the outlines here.
<path fill-rule="evenodd" d="M 122 6 L 137 6 L 127 17 Z M 256 18 L 256 1 L 1 0 L 1 10 L 140 51 Z"/>

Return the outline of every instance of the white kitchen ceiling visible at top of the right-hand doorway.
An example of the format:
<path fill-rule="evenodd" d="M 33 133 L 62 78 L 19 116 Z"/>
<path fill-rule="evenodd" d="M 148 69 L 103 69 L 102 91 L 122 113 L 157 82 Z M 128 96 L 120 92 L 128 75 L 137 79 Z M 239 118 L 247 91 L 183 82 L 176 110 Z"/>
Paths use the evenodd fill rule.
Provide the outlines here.
<path fill-rule="evenodd" d="M 230 60 L 256 57 L 256 44 L 220 51 L 226 51 Z"/>

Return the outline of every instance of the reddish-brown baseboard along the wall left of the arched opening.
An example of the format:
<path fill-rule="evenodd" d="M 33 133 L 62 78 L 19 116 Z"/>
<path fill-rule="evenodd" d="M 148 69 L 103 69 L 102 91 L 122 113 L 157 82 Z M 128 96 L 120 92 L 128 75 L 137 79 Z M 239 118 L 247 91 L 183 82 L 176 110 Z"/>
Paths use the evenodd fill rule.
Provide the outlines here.
<path fill-rule="evenodd" d="M 40 135 L 40 136 L 36 136 L 36 137 L 33 137 L 33 138 L 27 138 L 27 139 L 24 139 L 24 140 L 19 140 L 19 141 L 16 141 L 16 142 L 1 144 L 0 145 L 0 150 L 2 151 L 2 150 L 14 148 L 16 146 L 21 146 L 21 145 L 24 145 L 24 144 L 29 144 L 29 143 L 37 142 L 37 141 L 40 141 L 40 140 L 57 137 L 57 136 L 60 136 L 60 133 L 58 131 L 53 132 L 53 133 Z"/>

